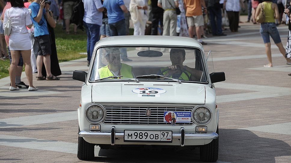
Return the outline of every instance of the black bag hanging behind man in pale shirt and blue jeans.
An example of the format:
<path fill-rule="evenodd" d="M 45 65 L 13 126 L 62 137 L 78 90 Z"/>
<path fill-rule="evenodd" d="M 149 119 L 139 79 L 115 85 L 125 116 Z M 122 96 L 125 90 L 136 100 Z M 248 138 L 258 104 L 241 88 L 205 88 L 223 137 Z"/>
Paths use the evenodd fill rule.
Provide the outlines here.
<path fill-rule="evenodd" d="M 83 27 L 83 17 L 84 17 L 84 4 L 82 0 L 79 0 L 78 3 L 73 7 L 71 23 L 77 25 L 77 28 L 84 31 Z"/>

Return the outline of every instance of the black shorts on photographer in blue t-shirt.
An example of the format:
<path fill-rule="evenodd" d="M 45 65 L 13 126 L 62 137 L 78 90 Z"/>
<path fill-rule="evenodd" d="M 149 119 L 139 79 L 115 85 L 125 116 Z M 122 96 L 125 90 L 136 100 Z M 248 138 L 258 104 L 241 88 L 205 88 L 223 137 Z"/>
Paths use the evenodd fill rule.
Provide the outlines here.
<path fill-rule="evenodd" d="M 35 37 L 38 46 L 37 55 L 51 55 L 51 40 L 48 34 Z"/>

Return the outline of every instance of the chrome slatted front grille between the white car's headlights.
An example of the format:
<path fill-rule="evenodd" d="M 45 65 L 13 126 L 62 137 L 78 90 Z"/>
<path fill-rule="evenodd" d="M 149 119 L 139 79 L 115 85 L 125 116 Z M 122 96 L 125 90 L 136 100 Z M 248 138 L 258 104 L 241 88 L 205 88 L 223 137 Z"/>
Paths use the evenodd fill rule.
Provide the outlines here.
<path fill-rule="evenodd" d="M 136 125 L 169 125 L 164 122 L 164 111 L 191 111 L 192 107 L 168 106 L 112 106 L 103 105 L 106 109 L 104 124 L 136 124 Z M 145 116 L 146 109 L 151 116 Z M 192 125 L 193 123 L 176 123 L 175 125 Z"/>

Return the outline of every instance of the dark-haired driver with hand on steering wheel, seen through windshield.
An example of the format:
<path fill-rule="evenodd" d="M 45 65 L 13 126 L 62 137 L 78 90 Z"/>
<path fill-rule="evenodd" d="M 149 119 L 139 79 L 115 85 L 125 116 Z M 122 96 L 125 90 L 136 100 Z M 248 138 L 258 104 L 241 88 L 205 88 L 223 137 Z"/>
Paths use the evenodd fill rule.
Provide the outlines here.
<path fill-rule="evenodd" d="M 202 71 L 196 70 L 194 68 L 190 68 L 188 66 L 184 66 L 183 62 L 185 61 L 185 50 L 184 49 L 171 49 L 170 51 L 170 60 L 172 62 L 171 66 L 161 68 L 158 74 L 161 74 L 163 70 L 169 68 L 170 70 L 166 70 L 163 74 L 166 77 L 173 79 L 182 79 L 185 81 L 200 81 L 196 76 L 201 76 Z M 188 78 L 188 76 L 190 79 Z"/>

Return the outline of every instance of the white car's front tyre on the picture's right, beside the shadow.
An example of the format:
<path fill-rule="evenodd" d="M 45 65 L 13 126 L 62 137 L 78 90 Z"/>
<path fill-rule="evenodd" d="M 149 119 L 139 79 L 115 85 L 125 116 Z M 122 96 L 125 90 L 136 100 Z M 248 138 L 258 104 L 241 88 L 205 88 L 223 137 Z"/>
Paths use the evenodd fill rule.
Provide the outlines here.
<path fill-rule="evenodd" d="M 218 134 L 218 125 L 216 129 Z M 219 137 L 218 137 L 219 138 Z M 218 138 L 213 139 L 209 144 L 200 146 L 200 159 L 205 162 L 216 162 L 218 159 Z"/>

